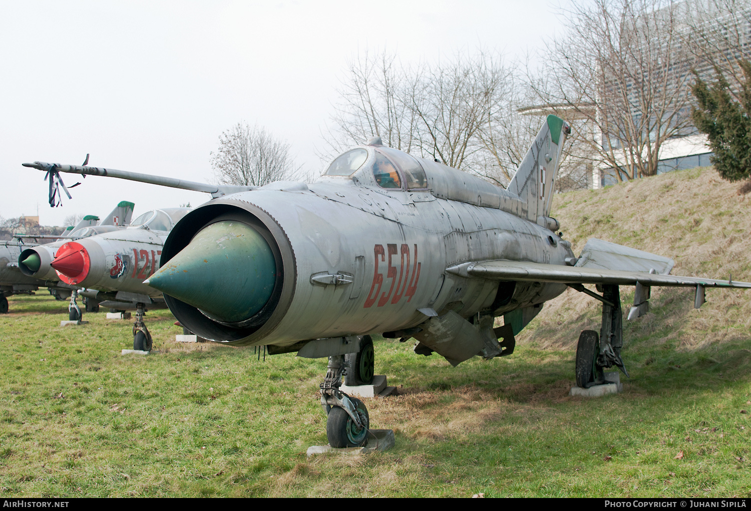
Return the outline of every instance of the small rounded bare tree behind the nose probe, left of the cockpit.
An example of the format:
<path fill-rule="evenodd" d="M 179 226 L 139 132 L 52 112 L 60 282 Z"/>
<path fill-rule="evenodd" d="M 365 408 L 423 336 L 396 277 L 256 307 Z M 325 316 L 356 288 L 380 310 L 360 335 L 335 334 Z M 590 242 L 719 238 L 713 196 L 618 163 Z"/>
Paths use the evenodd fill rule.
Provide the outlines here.
<path fill-rule="evenodd" d="M 300 177 L 301 167 L 294 166 L 288 143 L 242 122 L 222 133 L 210 162 L 216 180 L 224 185 L 263 186 Z"/>

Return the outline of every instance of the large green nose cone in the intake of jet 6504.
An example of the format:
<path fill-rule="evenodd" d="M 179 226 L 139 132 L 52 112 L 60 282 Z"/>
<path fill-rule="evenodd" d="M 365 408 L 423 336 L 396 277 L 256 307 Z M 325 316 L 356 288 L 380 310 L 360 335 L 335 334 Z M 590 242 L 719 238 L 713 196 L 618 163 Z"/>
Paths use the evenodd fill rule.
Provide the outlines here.
<path fill-rule="evenodd" d="M 275 282 L 264 237 L 242 222 L 219 221 L 198 232 L 148 285 L 215 320 L 237 323 L 266 305 Z"/>

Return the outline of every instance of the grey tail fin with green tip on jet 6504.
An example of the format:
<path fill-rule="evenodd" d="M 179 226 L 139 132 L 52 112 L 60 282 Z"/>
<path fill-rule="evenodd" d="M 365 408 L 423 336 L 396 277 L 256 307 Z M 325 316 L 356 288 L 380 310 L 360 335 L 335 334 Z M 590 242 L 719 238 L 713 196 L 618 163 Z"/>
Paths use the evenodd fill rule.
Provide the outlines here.
<path fill-rule="evenodd" d="M 508 184 L 507 190 L 526 203 L 526 218 L 547 226 L 550 203 L 556 182 L 563 142 L 571 133 L 569 125 L 560 117 L 547 116 L 521 165 Z"/>

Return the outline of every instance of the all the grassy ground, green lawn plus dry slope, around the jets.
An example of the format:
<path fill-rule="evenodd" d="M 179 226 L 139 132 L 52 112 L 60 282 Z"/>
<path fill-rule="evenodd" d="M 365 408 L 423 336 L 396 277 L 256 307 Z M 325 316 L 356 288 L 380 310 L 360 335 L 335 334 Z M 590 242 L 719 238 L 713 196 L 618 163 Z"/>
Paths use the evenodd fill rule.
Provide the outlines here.
<path fill-rule="evenodd" d="M 713 170 L 561 194 L 553 210 L 577 253 L 595 236 L 674 257 L 675 274 L 751 280 L 749 206 Z M 605 398 L 568 395 L 578 332 L 599 325 L 573 290 L 502 359 L 452 368 L 376 339 L 376 373 L 399 395 L 365 401 L 396 447 L 306 458 L 326 443 L 324 360 L 176 344 L 169 311 L 146 316 L 151 355 L 122 356 L 130 321 L 61 327 L 65 302 L 13 296 L 0 317 L 0 494 L 749 497 L 751 295 L 707 300 L 694 310 L 690 290 L 653 291 L 625 326 L 632 378 Z"/>

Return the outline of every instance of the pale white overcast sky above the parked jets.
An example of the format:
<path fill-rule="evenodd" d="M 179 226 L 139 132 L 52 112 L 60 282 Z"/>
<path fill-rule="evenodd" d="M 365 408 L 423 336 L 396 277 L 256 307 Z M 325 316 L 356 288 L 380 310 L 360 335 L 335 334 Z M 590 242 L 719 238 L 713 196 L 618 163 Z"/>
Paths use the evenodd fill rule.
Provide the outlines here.
<path fill-rule="evenodd" d="M 0 215 L 62 225 L 119 200 L 135 215 L 198 206 L 210 197 L 89 176 L 51 209 L 44 173 L 21 164 L 91 153 L 100 167 L 210 182 L 210 152 L 241 121 L 319 174 L 315 149 L 358 51 L 418 62 L 483 47 L 511 61 L 559 30 L 560 3 L 0 1 Z"/>

